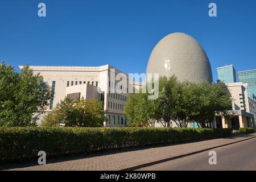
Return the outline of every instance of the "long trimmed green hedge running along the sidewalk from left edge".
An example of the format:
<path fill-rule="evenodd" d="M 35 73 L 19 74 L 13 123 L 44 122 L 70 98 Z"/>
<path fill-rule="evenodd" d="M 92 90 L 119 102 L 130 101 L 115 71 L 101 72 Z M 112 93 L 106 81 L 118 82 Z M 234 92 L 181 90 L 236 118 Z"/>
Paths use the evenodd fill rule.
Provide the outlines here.
<path fill-rule="evenodd" d="M 229 137 L 232 129 L 0 127 L 0 162 Z"/>

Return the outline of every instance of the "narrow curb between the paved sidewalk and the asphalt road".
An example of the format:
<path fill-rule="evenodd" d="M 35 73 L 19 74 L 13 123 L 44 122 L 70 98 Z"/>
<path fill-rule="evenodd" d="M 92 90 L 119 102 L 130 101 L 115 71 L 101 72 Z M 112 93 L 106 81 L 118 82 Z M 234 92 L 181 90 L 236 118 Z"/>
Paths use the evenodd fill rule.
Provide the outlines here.
<path fill-rule="evenodd" d="M 183 158 L 183 157 L 185 157 L 185 156 L 189 156 L 189 155 L 193 155 L 193 154 L 199 154 L 199 153 L 201 153 L 201 152 L 205 152 L 205 151 L 208 151 L 208 150 L 212 150 L 212 149 L 214 149 L 214 148 L 220 148 L 220 147 L 224 147 L 224 146 L 229 146 L 230 144 L 243 142 L 243 141 L 250 140 L 250 139 L 253 139 L 253 138 L 256 138 L 256 136 L 250 137 L 250 138 L 246 138 L 246 139 L 243 139 L 243 140 L 239 140 L 239 141 L 236 141 L 236 142 L 232 142 L 232 143 L 222 144 L 222 145 L 220 145 L 220 146 L 205 148 L 205 149 L 203 149 L 203 150 L 199 150 L 199 151 L 195 151 L 195 152 L 190 152 L 190 153 L 188 153 L 188 154 L 173 156 L 173 157 L 171 157 L 171 158 L 156 160 L 156 161 L 154 161 L 154 162 L 150 162 L 150 163 L 146 163 L 146 164 L 140 164 L 140 165 L 138 165 L 138 166 L 133 166 L 133 167 L 125 168 L 125 169 L 120 169 L 119 171 L 134 171 L 134 170 L 136 170 L 136 169 L 140 169 L 140 168 L 143 168 L 143 167 L 148 167 L 148 166 L 152 166 L 152 165 L 155 165 L 155 164 L 167 162 L 167 161 L 170 161 L 170 160 Z"/>

